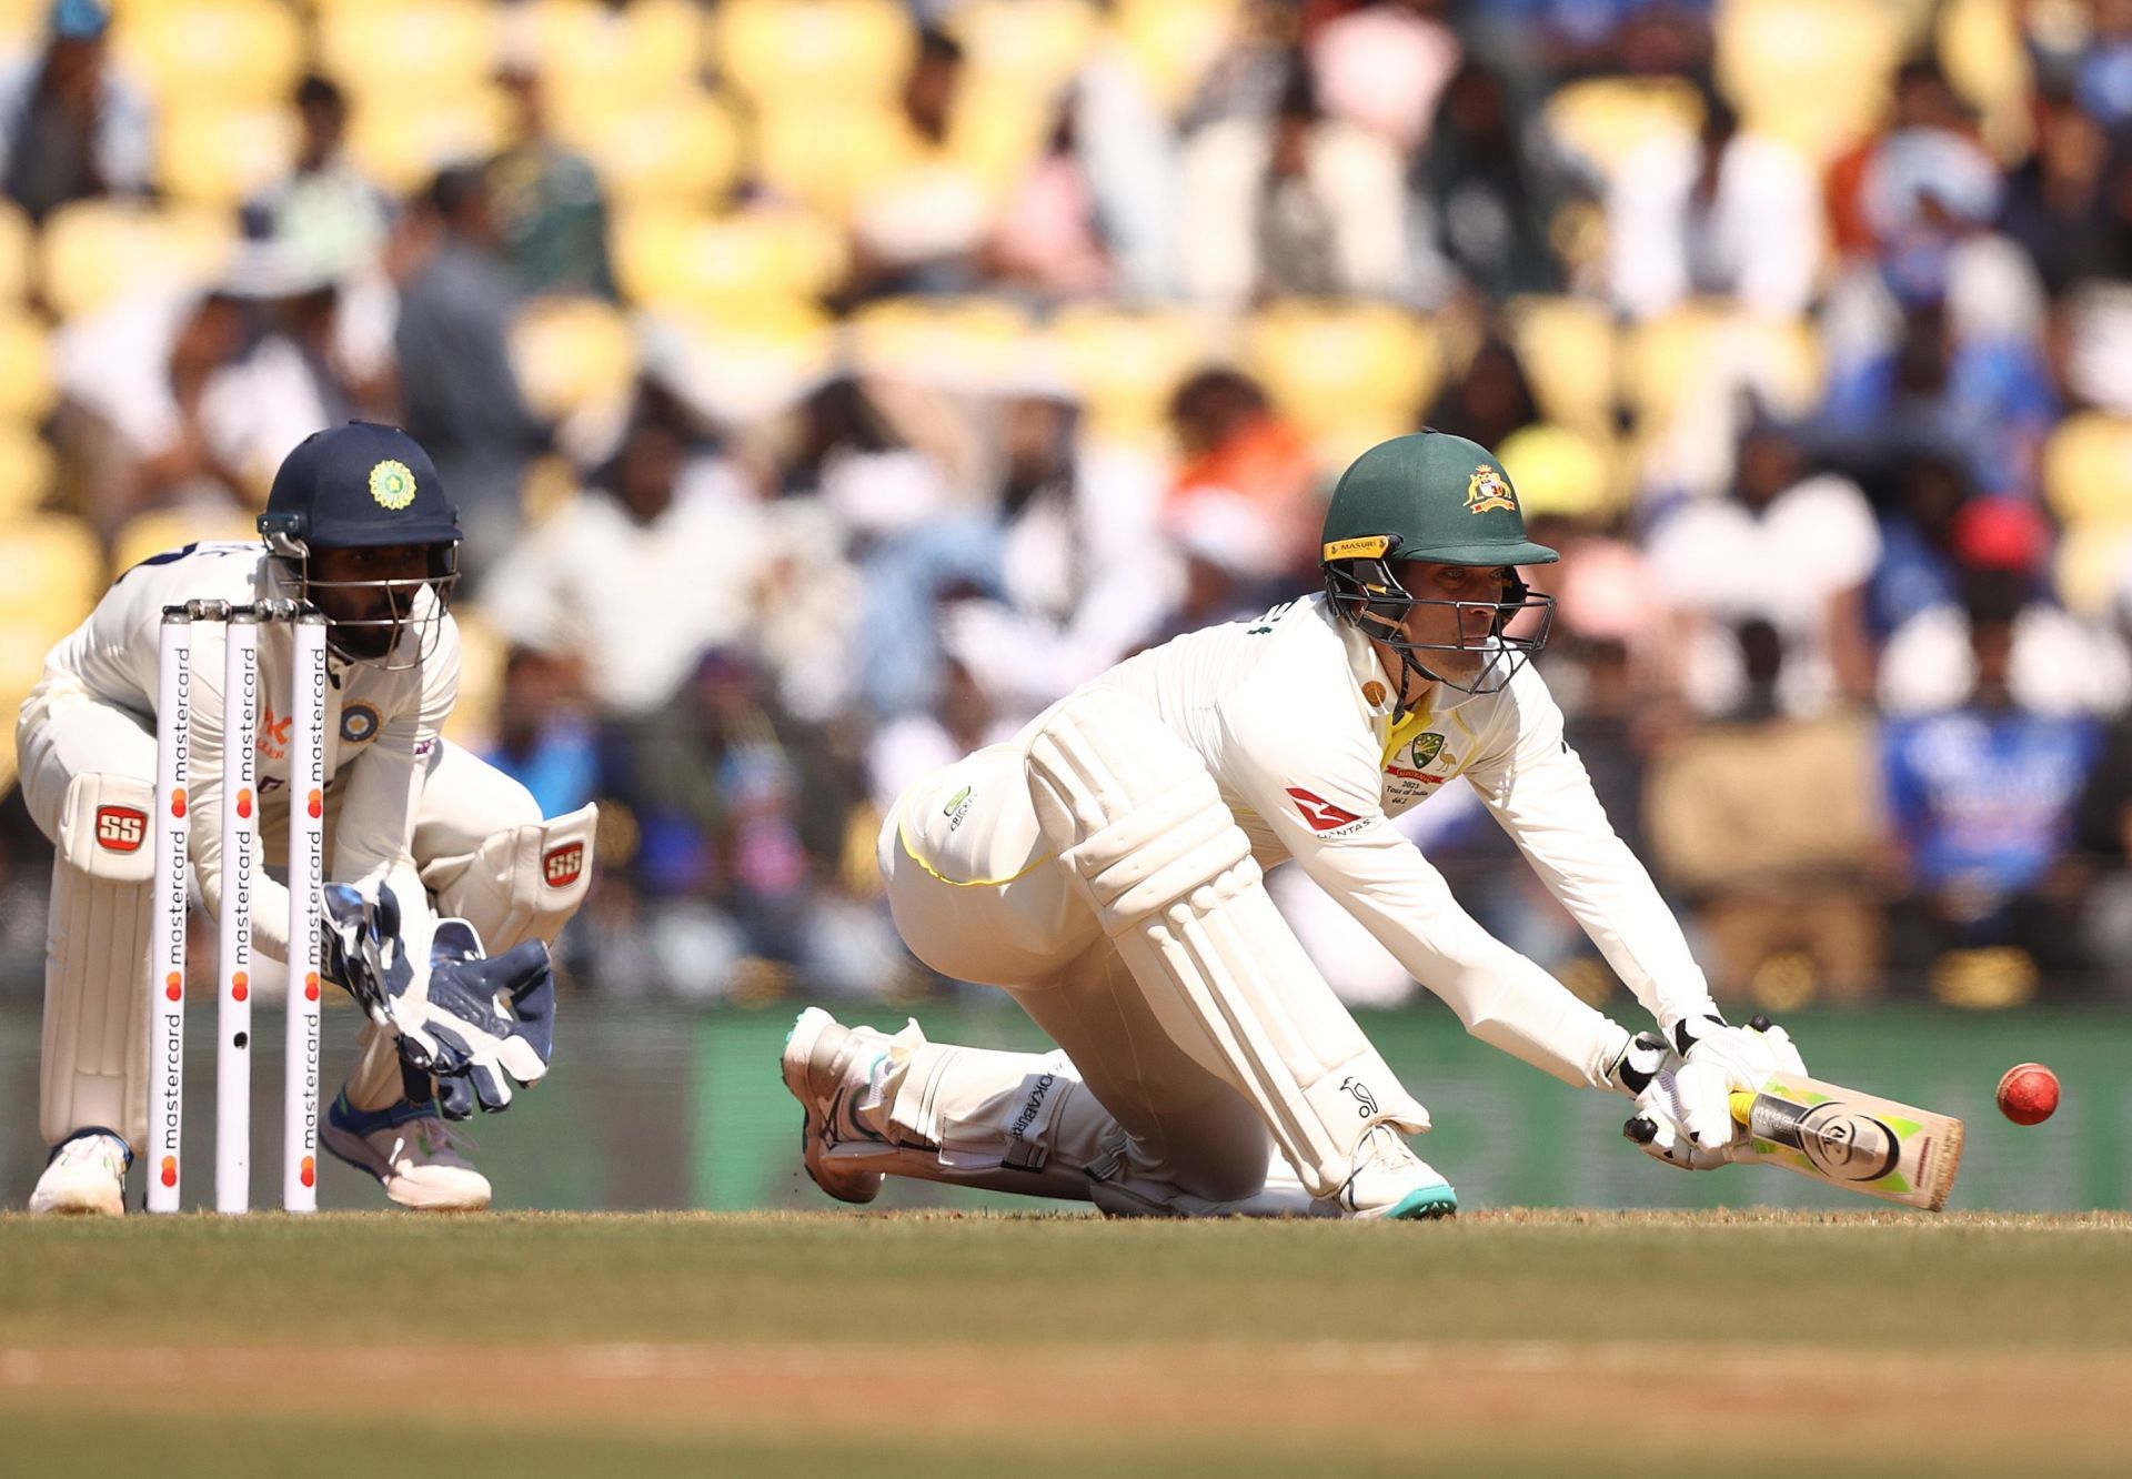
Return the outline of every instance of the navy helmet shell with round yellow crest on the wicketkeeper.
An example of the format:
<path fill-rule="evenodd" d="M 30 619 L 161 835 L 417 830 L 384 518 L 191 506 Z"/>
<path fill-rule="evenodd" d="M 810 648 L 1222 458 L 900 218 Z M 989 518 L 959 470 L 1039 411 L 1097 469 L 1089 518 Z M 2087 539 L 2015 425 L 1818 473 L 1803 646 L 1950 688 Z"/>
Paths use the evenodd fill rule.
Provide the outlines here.
<path fill-rule="evenodd" d="M 348 422 L 311 433 L 281 458 L 260 533 L 313 550 L 458 543 L 458 511 L 422 443 L 397 426 Z"/>

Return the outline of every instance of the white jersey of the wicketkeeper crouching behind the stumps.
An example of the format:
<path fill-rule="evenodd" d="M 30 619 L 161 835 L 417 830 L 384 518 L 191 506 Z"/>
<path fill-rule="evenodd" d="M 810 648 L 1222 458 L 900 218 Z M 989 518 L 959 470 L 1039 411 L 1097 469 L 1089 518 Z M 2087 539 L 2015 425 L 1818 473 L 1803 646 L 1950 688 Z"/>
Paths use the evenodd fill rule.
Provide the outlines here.
<path fill-rule="evenodd" d="M 154 725 L 162 610 L 185 601 L 247 603 L 294 597 L 292 582 L 247 541 L 196 543 L 160 554 L 113 582 L 104 599 L 45 659 L 45 678 L 30 693 L 36 705 L 98 701 Z M 401 637 L 411 648 L 416 633 Z M 294 635 L 284 622 L 260 629 L 260 844 L 277 861 L 288 840 L 290 663 Z M 192 865 L 211 912 L 222 904 L 222 673 L 224 631 L 198 622 L 192 631 Z M 392 882 L 403 936 L 429 938 L 426 895 L 414 872 L 414 816 L 422 776 L 439 731 L 458 697 L 458 627 L 443 618 L 435 648 L 420 665 L 384 671 L 326 654 L 326 793 L 335 806 L 333 863 L 326 876 L 375 895 Z M 288 957 L 288 891 L 262 880 L 252 901 L 258 948 Z"/>

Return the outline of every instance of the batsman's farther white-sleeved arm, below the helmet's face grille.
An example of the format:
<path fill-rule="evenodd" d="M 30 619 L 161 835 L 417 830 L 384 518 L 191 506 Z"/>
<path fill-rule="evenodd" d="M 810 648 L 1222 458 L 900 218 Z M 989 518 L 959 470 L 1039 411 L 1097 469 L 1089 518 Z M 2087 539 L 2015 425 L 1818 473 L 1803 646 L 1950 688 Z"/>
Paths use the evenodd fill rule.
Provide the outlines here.
<path fill-rule="evenodd" d="M 1608 823 L 1537 671 L 1518 673 L 1505 710 L 1514 733 L 1467 767 L 1467 782 L 1667 1036 L 1682 1017 L 1714 1012 L 1680 921 Z"/>

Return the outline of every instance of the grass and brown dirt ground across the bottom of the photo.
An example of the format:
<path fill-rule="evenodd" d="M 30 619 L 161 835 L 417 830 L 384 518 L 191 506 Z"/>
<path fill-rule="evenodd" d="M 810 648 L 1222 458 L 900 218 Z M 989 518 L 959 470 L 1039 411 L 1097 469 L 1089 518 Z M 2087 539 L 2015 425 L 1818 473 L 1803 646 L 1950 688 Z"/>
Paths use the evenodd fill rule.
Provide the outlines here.
<path fill-rule="evenodd" d="M 2123 1473 L 2132 1217 L 0 1217 L 9 1473 Z"/>

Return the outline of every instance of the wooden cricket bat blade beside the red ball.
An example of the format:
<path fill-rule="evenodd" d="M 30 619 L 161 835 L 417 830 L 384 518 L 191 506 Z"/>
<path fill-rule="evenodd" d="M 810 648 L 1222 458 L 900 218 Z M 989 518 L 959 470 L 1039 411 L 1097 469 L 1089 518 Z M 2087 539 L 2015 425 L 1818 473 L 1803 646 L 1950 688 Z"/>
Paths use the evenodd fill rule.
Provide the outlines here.
<path fill-rule="evenodd" d="M 1787 1166 L 1904 1206 L 1944 1210 L 1961 1170 L 1959 1119 L 1819 1078 L 1774 1074 L 1755 1093 L 1733 1091 L 1731 1112 L 1748 1134 L 1735 1159 Z"/>

